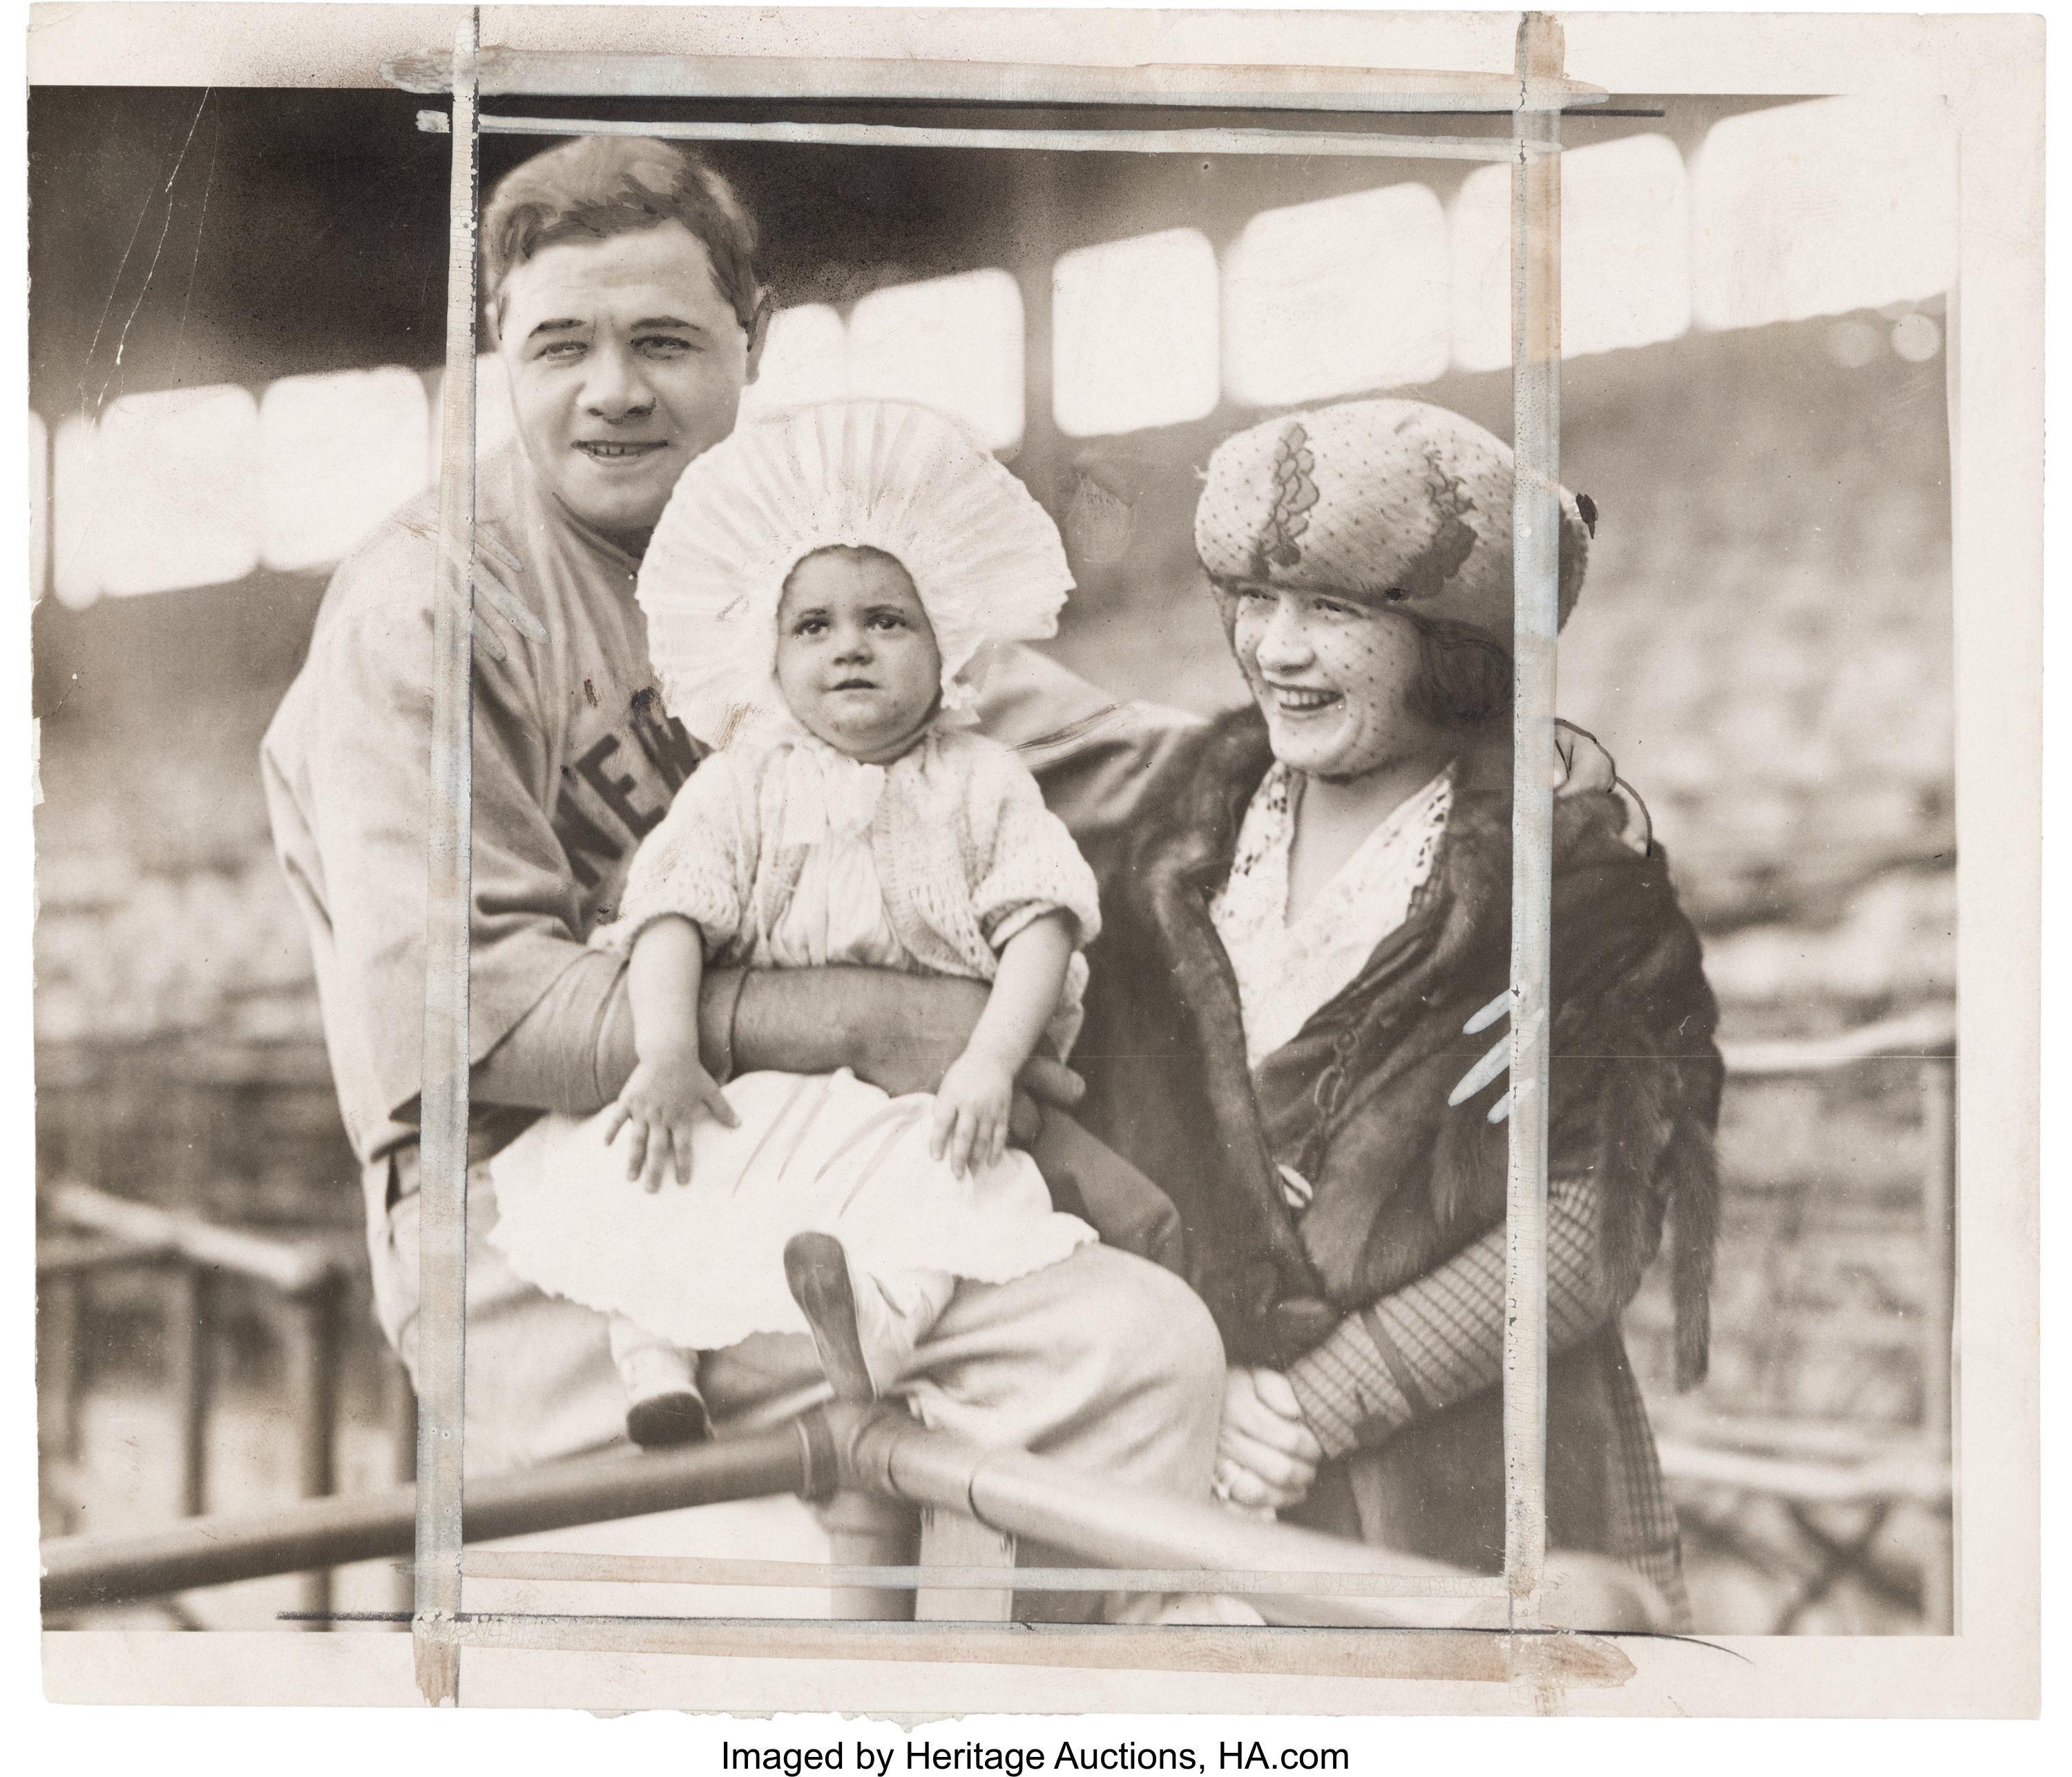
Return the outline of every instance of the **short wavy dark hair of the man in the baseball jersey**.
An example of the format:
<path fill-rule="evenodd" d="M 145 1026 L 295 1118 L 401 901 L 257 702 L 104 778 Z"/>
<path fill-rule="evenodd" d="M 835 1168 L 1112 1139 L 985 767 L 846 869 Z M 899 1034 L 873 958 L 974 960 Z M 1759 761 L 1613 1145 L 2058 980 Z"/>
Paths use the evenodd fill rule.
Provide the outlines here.
<path fill-rule="evenodd" d="M 483 299 L 503 311 L 503 280 L 562 241 L 605 241 L 682 222 L 713 259 L 713 280 L 744 332 L 762 305 L 756 222 L 702 156 L 655 137 L 586 135 L 503 174 L 483 214 Z"/>

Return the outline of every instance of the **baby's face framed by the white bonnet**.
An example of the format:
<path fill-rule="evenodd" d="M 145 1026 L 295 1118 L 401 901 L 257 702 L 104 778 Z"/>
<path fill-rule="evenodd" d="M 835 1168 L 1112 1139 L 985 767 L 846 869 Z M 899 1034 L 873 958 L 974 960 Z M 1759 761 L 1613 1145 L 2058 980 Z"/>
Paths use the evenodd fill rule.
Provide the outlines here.
<path fill-rule="evenodd" d="M 825 549 L 777 605 L 777 688 L 829 746 L 885 765 L 934 715 L 943 655 L 914 581 L 889 556 Z"/>

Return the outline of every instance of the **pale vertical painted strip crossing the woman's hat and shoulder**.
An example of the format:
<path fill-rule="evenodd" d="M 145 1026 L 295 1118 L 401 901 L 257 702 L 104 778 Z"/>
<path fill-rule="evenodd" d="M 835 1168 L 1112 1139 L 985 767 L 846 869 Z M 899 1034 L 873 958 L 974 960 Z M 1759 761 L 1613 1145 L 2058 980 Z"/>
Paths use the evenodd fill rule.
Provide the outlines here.
<path fill-rule="evenodd" d="M 1554 632 L 1560 622 L 1562 31 L 1519 25 L 1510 168 L 1513 535 L 1510 1188 L 1504 1277 L 1504 1574 L 1513 1628 L 1539 1621 L 1546 1576 L 1548 979 L 1554 954 Z"/>

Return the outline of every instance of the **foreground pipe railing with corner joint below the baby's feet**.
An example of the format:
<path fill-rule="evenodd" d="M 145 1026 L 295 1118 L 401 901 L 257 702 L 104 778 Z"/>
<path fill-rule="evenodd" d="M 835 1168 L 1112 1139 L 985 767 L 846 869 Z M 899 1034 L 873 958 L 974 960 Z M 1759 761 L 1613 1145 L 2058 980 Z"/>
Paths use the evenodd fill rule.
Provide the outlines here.
<path fill-rule="evenodd" d="M 586 1458 L 468 1483 L 468 1545 L 638 1518 L 727 1499 L 868 1495 L 922 1507 L 912 1566 L 615 1557 L 609 1578 L 725 1584 L 831 1584 L 866 1599 L 912 1592 L 920 1621 L 999 1621 L 1017 1590 L 1218 1590 L 1268 1621 L 1502 1628 L 1500 1578 L 1233 1514 L 1080 1474 L 1017 1449 L 928 1431 L 897 1406 L 831 1402 L 733 1439 L 649 1456 Z M 290 1505 L 133 1536 L 44 1545 L 44 1611 L 64 1613 L 352 1561 L 408 1559 L 416 1491 Z M 1090 1563 L 1017 1568 L 1019 1539 Z M 483 1578 L 562 1578 L 584 1557 L 514 1551 Z M 1664 1628 L 1660 1599 L 1610 1557 L 1558 1559 L 1556 1628 Z M 752 1572 L 750 1572 L 752 1570 Z M 779 1572 L 781 1570 L 781 1572 Z M 905 1615 L 856 1609 L 837 1615 Z M 406 1621 L 404 1613 L 396 1613 Z M 462 1619 L 464 1621 L 464 1619 Z"/>

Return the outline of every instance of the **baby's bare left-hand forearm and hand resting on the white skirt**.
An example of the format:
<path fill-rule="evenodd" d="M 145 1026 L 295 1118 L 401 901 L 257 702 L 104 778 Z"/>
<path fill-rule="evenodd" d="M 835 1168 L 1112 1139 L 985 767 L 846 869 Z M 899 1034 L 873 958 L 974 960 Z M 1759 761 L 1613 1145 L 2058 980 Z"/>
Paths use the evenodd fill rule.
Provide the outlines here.
<path fill-rule="evenodd" d="M 733 1105 L 698 1060 L 698 987 L 704 977 L 704 939 L 682 914 L 651 921 L 634 939 L 626 964 L 626 997 L 634 1014 L 634 1064 L 605 1116 L 609 1145 L 632 1124 L 626 1176 L 659 1190 L 675 1157 L 675 1182 L 690 1184 L 690 1130 L 698 1113 L 736 1128 Z"/>

